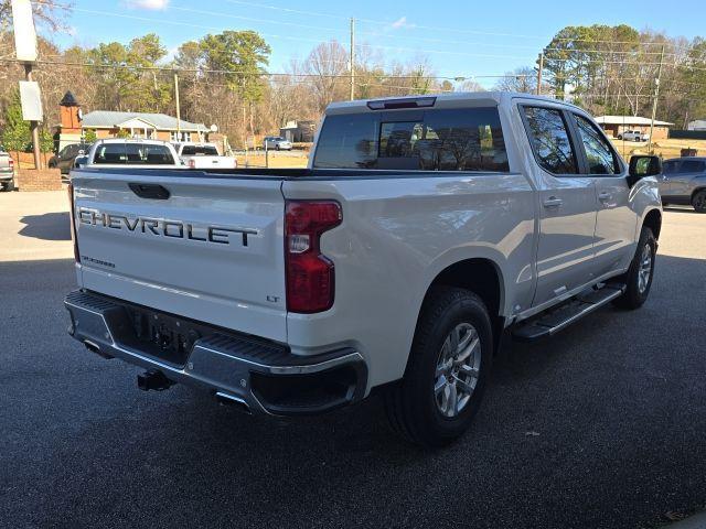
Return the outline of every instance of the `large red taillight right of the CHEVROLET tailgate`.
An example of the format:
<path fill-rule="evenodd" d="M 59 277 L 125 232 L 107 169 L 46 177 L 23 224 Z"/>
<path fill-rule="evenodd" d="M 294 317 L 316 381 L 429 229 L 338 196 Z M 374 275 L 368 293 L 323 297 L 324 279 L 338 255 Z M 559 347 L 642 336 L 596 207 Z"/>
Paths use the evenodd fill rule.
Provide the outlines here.
<path fill-rule="evenodd" d="M 341 205 L 333 201 L 287 201 L 285 258 L 287 310 L 311 314 L 333 305 L 333 262 L 321 253 L 321 235 L 339 224 Z"/>

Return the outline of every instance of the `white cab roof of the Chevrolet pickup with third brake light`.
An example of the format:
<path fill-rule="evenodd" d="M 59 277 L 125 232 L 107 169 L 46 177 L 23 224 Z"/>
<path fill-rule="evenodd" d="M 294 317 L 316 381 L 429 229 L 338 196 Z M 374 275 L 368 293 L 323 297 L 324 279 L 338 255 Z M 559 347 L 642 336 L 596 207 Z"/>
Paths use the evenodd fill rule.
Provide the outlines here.
<path fill-rule="evenodd" d="M 537 101 L 548 101 L 553 104 L 565 105 L 574 109 L 580 109 L 576 105 L 555 99 L 546 96 L 536 96 L 534 94 L 523 94 L 516 91 L 452 91 L 445 94 L 424 94 L 415 96 L 402 96 L 402 97 L 381 97 L 375 99 L 357 99 L 353 101 L 335 101 L 327 107 L 328 115 L 334 114 L 352 114 L 360 111 L 375 111 L 385 108 L 385 104 L 397 104 L 394 108 L 405 108 L 405 102 L 413 104 L 418 100 L 417 106 L 409 106 L 407 108 L 460 108 L 464 106 L 488 106 L 488 105 L 501 105 L 509 102 L 511 99 L 521 97 L 523 99 L 536 99 Z M 379 105 L 379 108 L 371 108 L 373 105 Z"/>

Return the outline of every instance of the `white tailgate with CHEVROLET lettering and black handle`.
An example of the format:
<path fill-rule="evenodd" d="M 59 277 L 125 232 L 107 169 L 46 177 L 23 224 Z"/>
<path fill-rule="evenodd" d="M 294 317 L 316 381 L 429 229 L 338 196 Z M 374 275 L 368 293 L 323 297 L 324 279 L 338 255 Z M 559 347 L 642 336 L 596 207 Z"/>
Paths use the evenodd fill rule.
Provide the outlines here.
<path fill-rule="evenodd" d="M 82 287 L 286 341 L 280 179 L 158 174 L 73 174 Z"/>

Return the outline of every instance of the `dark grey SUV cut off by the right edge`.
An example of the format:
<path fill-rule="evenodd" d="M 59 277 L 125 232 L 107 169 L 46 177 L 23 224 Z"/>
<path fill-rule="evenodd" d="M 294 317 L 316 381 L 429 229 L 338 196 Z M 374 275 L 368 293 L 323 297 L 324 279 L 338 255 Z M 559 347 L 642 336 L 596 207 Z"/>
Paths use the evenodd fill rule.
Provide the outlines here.
<path fill-rule="evenodd" d="M 706 158 L 665 161 L 660 194 L 664 205 L 691 205 L 696 212 L 706 213 Z"/>

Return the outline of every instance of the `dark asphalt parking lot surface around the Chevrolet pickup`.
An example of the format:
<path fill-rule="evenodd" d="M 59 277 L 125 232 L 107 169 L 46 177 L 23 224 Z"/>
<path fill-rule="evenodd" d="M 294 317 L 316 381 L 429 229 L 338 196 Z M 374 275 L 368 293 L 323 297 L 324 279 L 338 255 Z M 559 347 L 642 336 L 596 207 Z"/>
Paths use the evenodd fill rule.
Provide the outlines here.
<path fill-rule="evenodd" d="M 422 452 L 375 397 L 244 415 L 66 334 L 65 193 L 0 194 L 0 525 L 656 527 L 706 503 L 706 215 L 664 215 L 637 312 L 507 341 L 471 431 Z"/>

